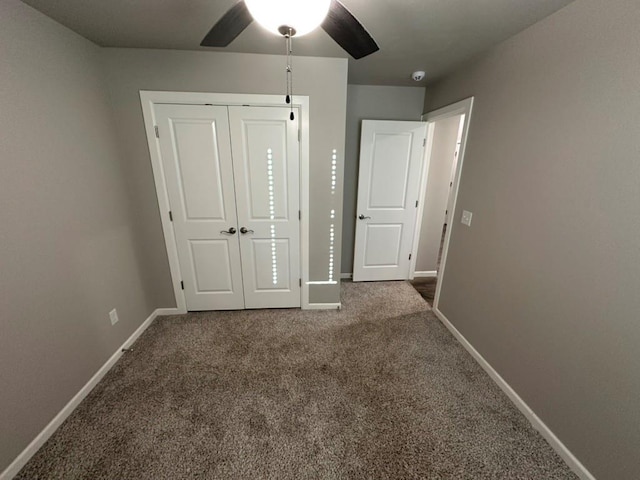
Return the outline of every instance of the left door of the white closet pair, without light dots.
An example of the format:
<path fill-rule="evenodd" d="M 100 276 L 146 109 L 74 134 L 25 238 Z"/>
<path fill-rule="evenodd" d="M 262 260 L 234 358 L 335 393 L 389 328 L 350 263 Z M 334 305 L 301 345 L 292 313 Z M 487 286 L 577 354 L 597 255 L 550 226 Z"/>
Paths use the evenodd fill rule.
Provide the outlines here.
<path fill-rule="evenodd" d="M 227 107 L 155 112 L 187 309 L 242 309 Z"/>

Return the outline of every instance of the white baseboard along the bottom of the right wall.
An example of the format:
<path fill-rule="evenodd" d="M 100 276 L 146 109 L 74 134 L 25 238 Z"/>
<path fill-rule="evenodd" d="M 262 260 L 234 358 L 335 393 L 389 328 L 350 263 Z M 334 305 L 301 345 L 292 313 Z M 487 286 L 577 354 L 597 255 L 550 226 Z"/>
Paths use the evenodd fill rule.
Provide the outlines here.
<path fill-rule="evenodd" d="M 462 344 L 462 346 L 473 356 L 473 358 L 480 364 L 485 372 L 491 377 L 491 379 L 500 387 L 500 389 L 509 397 L 509 399 L 518 407 L 527 420 L 531 423 L 540 435 L 551 445 L 560 457 L 566 462 L 573 472 L 578 475 L 582 480 L 596 480 L 596 478 L 582 465 L 573 453 L 566 447 L 564 443 L 560 441 L 558 437 L 551 431 L 551 429 L 538 417 L 533 410 L 526 404 L 526 402 L 520 398 L 520 395 L 511 388 L 504 378 L 500 376 L 498 372 L 480 355 L 480 353 L 469 343 L 469 341 L 458 331 L 456 327 L 445 317 L 445 315 L 435 307 L 433 313 L 436 314 L 438 319 L 443 323 L 445 327 L 453 334 L 454 337 Z"/>

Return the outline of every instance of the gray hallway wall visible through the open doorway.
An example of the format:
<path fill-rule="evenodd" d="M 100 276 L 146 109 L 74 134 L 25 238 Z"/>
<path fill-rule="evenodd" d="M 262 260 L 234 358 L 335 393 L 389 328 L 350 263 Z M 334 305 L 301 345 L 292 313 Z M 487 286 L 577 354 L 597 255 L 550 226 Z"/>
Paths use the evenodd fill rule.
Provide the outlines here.
<path fill-rule="evenodd" d="M 456 115 L 440 120 L 434 125 L 429 176 L 423 199 L 424 210 L 416 253 L 417 272 L 437 270 L 460 118 L 461 115 Z"/>

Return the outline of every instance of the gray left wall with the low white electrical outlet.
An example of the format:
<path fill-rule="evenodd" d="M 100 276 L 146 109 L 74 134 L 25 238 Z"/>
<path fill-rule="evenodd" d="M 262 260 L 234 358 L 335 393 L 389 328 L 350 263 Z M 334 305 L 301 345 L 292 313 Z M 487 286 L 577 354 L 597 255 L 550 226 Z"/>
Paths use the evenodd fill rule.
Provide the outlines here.
<path fill-rule="evenodd" d="M 0 2 L 0 471 L 157 306 L 99 56 Z"/>

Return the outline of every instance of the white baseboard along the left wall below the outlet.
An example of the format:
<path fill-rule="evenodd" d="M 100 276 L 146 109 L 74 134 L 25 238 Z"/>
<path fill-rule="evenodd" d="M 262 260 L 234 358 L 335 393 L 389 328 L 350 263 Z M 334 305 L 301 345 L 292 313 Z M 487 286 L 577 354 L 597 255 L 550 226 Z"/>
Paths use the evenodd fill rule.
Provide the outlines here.
<path fill-rule="evenodd" d="M 144 332 L 149 325 L 155 320 L 158 315 L 170 315 L 173 313 L 177 313 L 177 308 L 158 308 L 154 310 L 151 315 L 147 317 L 147 319 L 142 322 L 142 325 L 138 327 L 138 329 L 133 332 L 133 334 L 127 338 L 127 340 L 116 350 L 116 352 L 111 355 L 111 358 L 105 362 L 100 370 L 98 370 L 93 377 L 80 389 L 78 393 L 74 395 L 74 397 L 69 400 L 69 402 L 58 412 L 58 414 L 49 422 L 49 424 L 44 427 L 44 429 L 38 434 L 36 438 L 34 438 L 27 448 L 25 448 L 20 455 L 18 455 L 11 464 L 5 468 L 5 470 L 0 473 L 0 480 L 11 480 L 15 477 L 18 472 L 24 467 L 27 462 L 35 455 L 35 453 L 44 445 L 44 443 L 49 440 L 49 437 L 54 434 L 54 432 L 58 429 L 62 422 L 66 420 L 66 418 L 71 415 L 71 413 L 75 410 L 75 408 L 84 400 L 84 398 L 89 395 L 89 392 L 93 390 L 93 388 L 98 384 L 102 377 L 106 375 L 106 373 L 111 370 L 111 368 L 116 364 L 118 359 L 122 356 L 122 349 L 129 348 L 140 335 Z"/>

